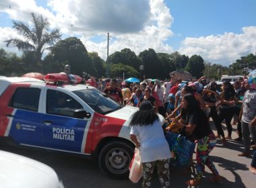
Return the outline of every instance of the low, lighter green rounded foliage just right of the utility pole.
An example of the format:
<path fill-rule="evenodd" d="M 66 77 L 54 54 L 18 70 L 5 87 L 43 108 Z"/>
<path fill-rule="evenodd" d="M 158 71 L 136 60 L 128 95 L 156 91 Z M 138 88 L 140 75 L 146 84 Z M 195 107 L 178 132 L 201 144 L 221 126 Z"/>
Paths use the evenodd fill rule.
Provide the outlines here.
<path fill-rule="evenodd" d="M 122 63 L 119 64 L 110 64 L 110 77 L 123 77 L 123 73 L 125 73 L 125 77 L 139 77 L 139 72 L 135 70 L 135 68 L 125 65 Z"/>

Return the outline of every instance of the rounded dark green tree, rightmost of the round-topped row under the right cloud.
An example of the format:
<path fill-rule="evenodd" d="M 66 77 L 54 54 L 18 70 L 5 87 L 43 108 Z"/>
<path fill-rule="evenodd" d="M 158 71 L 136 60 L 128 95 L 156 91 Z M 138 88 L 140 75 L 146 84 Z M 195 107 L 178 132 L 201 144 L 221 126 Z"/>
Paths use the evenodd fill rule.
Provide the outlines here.
<path fill-rule="evenodd" d="M 201 76 L 203 76 L 203 70 L 205 69 L 205 66 L 203 64 L 203 58 L 198 55 L 193 55 L 191 58 L 189 58 L 189 62 L 187 63 L 186 70 L 191 73 L 193 77 L 196 77 L 197 79 Z"/>

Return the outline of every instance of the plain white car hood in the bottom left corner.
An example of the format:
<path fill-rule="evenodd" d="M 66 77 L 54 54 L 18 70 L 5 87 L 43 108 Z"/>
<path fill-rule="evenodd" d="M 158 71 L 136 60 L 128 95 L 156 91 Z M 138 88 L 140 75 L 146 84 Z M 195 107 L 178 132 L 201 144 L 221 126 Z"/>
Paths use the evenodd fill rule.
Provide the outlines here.
<path fill-rule="evenodd" d="M 59 188 L 55 171 L 31 158 L 0 150 L 0 182 L 3 188 Z"/>

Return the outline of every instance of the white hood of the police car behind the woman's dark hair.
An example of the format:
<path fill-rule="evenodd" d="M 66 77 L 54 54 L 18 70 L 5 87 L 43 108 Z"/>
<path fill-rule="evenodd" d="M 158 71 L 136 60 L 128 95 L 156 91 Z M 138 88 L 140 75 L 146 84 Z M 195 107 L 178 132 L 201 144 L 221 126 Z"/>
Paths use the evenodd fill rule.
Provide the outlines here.
<path fill-rule="evenodd" d="M 124 126 L 127 126 L 128 124 L 128 120 L 130 120 L 131 115 L 133 115 L 133 113 L 135 113 L 135 111 L 137 111 L 139 108 L 138 107 L 133 107 L 130 105 L 126 105 L 124 107 L 122 107 L 121 109 L 118 109 L 117 111 L 113 111 L 111 113 L 108 113 L 109 117 L 112 118 L 119 118 L 122 120 L 125 120 L 125 124 Z M 158 114 L 159 118 L 160 118 L 160 122 L 162 122 L 162 124 L 164 124 L 164 117 L 160 114 Z"/>

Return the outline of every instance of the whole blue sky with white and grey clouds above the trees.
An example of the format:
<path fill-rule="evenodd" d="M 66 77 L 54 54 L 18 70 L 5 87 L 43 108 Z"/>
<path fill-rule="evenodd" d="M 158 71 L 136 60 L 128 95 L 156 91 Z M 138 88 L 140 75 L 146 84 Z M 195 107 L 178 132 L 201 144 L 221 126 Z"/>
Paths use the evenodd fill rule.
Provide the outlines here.
<path fill-rule="evenodd" d="M 62 39 L 75 36 L 104 60 L 109 33 L 109 54 L 153 48 L 229 66 L 256 53 L 255 10 L 256 0 L 1 0 L 0 48 L 21 54 L 4 41 L 20 38 L 13 20 L 31 24 L 35 12 L 50 30 L 60 28 Z"/>

